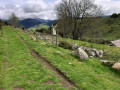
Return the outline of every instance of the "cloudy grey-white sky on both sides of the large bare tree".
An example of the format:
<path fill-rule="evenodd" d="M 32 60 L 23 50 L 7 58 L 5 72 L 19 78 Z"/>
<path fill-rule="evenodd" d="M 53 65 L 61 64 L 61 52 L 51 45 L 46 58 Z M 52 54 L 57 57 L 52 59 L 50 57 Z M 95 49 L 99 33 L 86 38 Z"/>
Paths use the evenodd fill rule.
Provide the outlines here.
<path fill-rule="evenodd" d="M 8 19 L 12 12 L 21 18 L 56 19 L 55 6 L 60 0 L 0 0 L 0 18 Z M 105 15 L 120 12 L 120 0 L 95 0 Z"/>

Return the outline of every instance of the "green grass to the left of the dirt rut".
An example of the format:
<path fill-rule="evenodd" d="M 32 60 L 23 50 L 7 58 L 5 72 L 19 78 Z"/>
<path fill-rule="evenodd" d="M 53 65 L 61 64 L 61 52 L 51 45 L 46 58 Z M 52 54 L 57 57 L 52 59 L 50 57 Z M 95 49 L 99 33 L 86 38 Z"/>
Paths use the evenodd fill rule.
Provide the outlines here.
<path fill-rule="evenodd" d="M 3 65 L 3 61 L 6 65 Z M 5 70 L 4 70 L 5 69 Z M 44 84 L 52 80 L 54 84 Z M 46 69 L 23 44 L 13 28 L 3 27 L 0 37 L 0 89 L 63 90 L 55 73 Z"/>

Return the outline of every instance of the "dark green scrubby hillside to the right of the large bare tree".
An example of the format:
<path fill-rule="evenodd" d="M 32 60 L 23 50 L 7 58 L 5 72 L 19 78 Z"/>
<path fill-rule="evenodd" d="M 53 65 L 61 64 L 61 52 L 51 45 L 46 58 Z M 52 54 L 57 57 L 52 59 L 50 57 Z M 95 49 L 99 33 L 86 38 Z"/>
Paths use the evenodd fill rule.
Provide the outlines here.
<path fill-rule="evenodd" d="M 108 43 L 120 39 L 120 18 L 95 18 L 86 30 L 84 39 L 90 42 Z"/>

